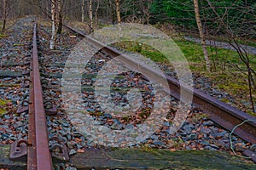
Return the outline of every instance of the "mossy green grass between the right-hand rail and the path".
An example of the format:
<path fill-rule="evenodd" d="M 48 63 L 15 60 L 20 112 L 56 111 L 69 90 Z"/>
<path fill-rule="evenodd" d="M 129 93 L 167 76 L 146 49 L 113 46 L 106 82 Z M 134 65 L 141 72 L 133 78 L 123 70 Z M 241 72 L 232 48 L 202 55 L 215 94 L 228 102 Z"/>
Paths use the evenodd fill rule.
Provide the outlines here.
<path fill-rule="evenodd" d="M 215 71 L 207 72 L 201 44 L 189 42 L 178 37 L 174 38 L 174 41 L 177 43 L 186 59 L 189 61 L 189 67 L 192 72 L 200 74 L 203 77 L 209 77 L 213 82 L 212 88 L 218 88 L 220 91 L 231 94 L 236 98 L 236 103 L 241 103 L 241 99 L 244 101 L 249 101 L 246 66 L 241 62 L 241 59 L 236 51 L 224 48 L 211 50 L 210 47 L 207 47 L 212 63 L 214 61 L 216 64 Z M 160 51 L 149 47 L 148 45 L 139 44 L 138 42 L 117 42 L 113 45 L 134 53 L 143 54 L 145 57 L 152 59 L 154 62 L 166 63 L 167 60 L 166 57 L 160 53 Z M 256 57 L 255 55 L 249 55 L 249 57 L 251 59 L 251 66 L 253 67 L 253 70 L 256 71 Z M 239 66 L 245 71 L 238 70 L 235 65 Z M 253 97 L 254 101 L 256 101 L 255 91 L 253 91 Z M 223 99 L 223 101 L 230 103 L 228 99 Z M 243 111 L 246 110 L 248 113 L 250 112 L 250 105 L 246 106 L 246 109 L 243 107 L 244 106 L 242 106 Z"/>

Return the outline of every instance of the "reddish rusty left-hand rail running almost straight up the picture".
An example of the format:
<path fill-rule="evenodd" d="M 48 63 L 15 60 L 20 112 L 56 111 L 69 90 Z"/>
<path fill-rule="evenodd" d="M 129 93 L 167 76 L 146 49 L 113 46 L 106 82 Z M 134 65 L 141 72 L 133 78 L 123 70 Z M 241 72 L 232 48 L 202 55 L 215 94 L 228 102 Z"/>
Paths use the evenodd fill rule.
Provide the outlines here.
<path fill-rule="evenodd" d="M 53 169 L 38 66 L 37 25 L 33 28 L 32 71 L 29 96 L 27 169 Z"/>

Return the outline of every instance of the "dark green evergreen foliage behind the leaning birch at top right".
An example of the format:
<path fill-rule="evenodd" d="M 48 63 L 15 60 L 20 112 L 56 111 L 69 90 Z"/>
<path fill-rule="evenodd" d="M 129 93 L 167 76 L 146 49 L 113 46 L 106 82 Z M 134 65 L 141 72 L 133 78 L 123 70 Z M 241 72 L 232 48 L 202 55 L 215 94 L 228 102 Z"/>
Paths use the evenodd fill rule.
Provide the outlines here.
<path fill-rule="evenodd" d="M 209 2 L 209 3 L 208 3 Z M 199 1 L 204 31 L 211 35 L 256 37 L 256 2 L 253 0 Z M 191 0 L 154 1 L 151 13 L 157 22 L 171 22 L 197 31 L 194 3 Z M 163 20 L 166 19 L 167 20 Z"/>

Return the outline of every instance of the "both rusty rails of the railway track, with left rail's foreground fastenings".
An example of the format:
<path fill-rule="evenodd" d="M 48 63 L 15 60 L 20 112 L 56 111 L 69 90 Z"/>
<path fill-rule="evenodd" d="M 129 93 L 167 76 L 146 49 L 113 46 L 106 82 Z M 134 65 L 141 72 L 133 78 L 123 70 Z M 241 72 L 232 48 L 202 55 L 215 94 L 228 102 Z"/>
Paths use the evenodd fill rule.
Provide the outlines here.
<path fill-rule="evenodd" d="M 82 37 L 86 37 L 83 33 L 74 30 L 70 26 L 66 26 L 69 30 L 76 32 Z M 121 55 L 119 51 L 106 47 L 102 42 L 88 38 L 91 44 L 98 48 L 102 48 L 102 51 L 111 57 Z M 46 121 L 46 110 L 44 109 L 44 97 L 43 89 L 41 85 L 41 77 L 39 72 L 38 63 L 38 40 L 37 40 L 37 25 L 33 27 L 33 42 L 32 42 L 32 62 L 30 72 L 30 94 L 29 94 L 29 126 L 28 126 L 28 139 L 16 141 L 11 145 L 10 158 L 12 160 L 19 159 L 20 156 L 27 156 L 27 169 L 53 169 L 52 156 L 64 157 L 62 161 L 68 161 L 67 149 L 65 144 L 53 144 L 49 147 L 49 133 Z M 123 55 L 124 56 L 124 55 Z M 129 57 L 123 57 L 119 59 L 120 62 L 124 63 L 127 68 L 134 68 L 138 66 L 136 60 L 130 59 Z M 256 144 L 256 119 L 253 116 L 248 116 L 246 113 L 237 110 L 230 105 L 226 105 L 223 102 L 213 99 L 201 91 L 189 88 L 183 85 L 172 77 L 162 77 L 154 69 L 139 65 L 141 73 L 150 77 L 157 82 L 161 83 L 167 80 L 168 86 L 164 87 L 166 92 L 176 99 L 180 99 L 180 91 L 183 88 L 185 95 L 193 95 L 193 104 L 200 108 L 203 112 L 210 115 L 210 119 L 213 122 L 218 123 L 221 127 L 226 128 L 229 131 L 233 131 L 241 139 L 246 140 L 251 144 Z M 165 84 L 165 83 L 162 83 Z M 183 100 L 185 102 L 185 100 Z M 49 111 L 50 112 L 50 111 Z M 55 112 L 55 111 L 53 111 Z M 238 126 L 241 124 L 241 126 Z M 236 127 L 236 128 L 235 128 Z M 54 140 L 59 140 L 55 139 Z M 58 153 L 50 152 L 50 150 L 56 150 Z M 61 151 L 60 151 L 61 150 Z M 54 154 L 53 154 L 54 153 Z M 58 155 L 59 154 L 59 155 Z M 252 150 L 244 150 L 243 154 L 249 156 L 253 161 L 256 161 L 255 153 Z"/>

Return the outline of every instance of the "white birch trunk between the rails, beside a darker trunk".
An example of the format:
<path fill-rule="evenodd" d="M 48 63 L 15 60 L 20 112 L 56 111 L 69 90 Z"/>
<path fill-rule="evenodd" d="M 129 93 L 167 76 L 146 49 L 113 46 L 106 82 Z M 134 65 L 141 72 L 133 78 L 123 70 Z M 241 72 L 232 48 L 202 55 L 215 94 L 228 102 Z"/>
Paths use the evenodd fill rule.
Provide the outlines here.
<path fill-rule="evenodd" d="M 49 48 L 54 49 L 55 48 L 55 0 L 51 0 L 51 38 L 49 42 Z"/>

